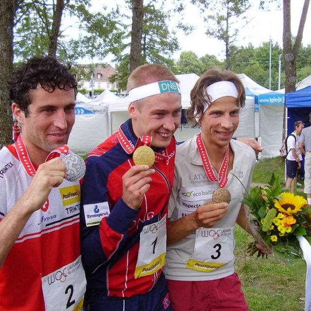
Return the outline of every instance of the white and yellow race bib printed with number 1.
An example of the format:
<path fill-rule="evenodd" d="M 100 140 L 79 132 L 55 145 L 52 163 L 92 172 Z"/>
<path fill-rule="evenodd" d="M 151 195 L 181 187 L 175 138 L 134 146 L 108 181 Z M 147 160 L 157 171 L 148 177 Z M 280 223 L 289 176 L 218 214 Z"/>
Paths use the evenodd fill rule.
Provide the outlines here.
<path fill-rule="evenodd" d="M 149 276 L 165 264 L 166 216 L 160 221 L 145 225 L 140 232 L 135 278 Z"/>

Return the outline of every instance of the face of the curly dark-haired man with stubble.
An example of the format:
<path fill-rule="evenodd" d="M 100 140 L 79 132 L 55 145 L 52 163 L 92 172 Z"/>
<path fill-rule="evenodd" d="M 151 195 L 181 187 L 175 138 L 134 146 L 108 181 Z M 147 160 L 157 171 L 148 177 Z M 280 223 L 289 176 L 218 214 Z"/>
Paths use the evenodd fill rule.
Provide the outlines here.
<path fill-rule="evenodd" d="M 75 120 L 75 95 L 73 89 L 55 88 L 48 92 L 41 86 L 31 89 L 29 95 L 27 117 L 16 103 L 12 104 L 12 111 L 22 125 L 22 137 L 31 160 L 41 164 L 52 150 L 68 142 Z"/>

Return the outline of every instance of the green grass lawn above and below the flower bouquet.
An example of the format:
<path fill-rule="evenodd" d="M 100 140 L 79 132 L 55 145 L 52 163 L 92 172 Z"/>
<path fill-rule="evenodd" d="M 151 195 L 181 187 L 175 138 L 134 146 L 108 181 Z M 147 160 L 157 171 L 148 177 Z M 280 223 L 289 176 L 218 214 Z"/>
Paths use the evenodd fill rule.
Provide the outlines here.
<path fill-rule="evenodd" d="M 281 157 L 259 160 L 253 183 L 267 184 L 272 173 L 284 181 L 285 164 Z M 297 194 L 305 195 L 302 192 Z M 245 248 L 252 238 L 235 227 L 235 269 L 250 311 L 303 311 L 307 267 L 302 259 L 284 261 L 272 255 L 250 257 Z"/>

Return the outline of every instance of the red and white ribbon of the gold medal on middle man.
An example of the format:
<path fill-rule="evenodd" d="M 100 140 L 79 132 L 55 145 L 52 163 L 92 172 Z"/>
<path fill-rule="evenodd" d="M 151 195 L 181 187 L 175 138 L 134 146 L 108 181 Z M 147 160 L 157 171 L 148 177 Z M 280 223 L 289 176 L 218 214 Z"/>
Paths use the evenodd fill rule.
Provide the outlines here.
<path fill-rule="evenodd" d="M 131 143 L 127 137 L 125 136 L 125 134 L 123 133 L 121 127 L 118 130 L 117 133 L 118 136 L 118 140 L 122 146 L 122 148 L 124 149 L 124 151 L 128 154 L 131 155 L 135 149 L 137 149 L 140 146 L 148 146 L 150 147 L 151 145 L 151 140 L 152 140 L 152 136 L 148 136 L 148 135 L 143 135 L 141 137 L 139 137 L 137 139 L 137 142 L 135 144 L 135 146 L 133 145 L 133 143 Z M 166 149 L 161 151 L 161 154 L 155 152 L 155 161 L 161 161 L 167 158 L 167 152 Z"/>

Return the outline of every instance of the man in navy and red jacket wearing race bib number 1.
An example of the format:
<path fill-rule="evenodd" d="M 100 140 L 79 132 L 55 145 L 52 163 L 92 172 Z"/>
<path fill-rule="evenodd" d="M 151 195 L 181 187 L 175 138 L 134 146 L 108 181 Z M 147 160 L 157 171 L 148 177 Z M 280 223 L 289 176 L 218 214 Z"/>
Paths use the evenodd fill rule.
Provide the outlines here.
<path fill-rule="evenodd" d="M 85 309 L 169 311 L 162 267 L 180 88 L 171 70 L 147 64 L 131 73 L 127 89 L 130 119 L 86 157 L 81 186 Z M 155 154 L 150 168 L 133 161 L 143 145 Z"/>

